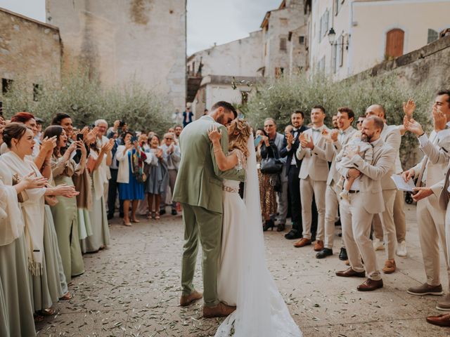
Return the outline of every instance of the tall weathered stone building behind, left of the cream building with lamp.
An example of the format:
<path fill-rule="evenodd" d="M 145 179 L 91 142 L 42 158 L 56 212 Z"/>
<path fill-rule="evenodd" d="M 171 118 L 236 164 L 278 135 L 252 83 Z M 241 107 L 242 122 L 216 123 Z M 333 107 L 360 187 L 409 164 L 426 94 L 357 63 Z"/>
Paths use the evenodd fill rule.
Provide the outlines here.
<path fill-rule="evenodd" d="M 304 66 L 307 55 L 300 43 L 307 30 L 303 13 L 303 0 L 283 0 L 277 9 L 264 16 L 261 24 L 263 63 L 258 70 L 263 77 L 280 77 L 288 70 Z M 299 38 L 289 41 L 290 32 L 295 32 Z M 293 44 L 295 48 L 290 53 L 289 47 Z"/>

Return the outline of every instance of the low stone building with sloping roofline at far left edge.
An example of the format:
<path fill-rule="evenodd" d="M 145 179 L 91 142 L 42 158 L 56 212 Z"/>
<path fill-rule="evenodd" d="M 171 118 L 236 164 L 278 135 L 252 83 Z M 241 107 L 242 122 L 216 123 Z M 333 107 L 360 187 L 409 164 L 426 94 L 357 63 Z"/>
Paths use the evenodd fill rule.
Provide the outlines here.
<path fill-rule="evenodd" d="M 59 29 L 0 8 L 0 95 L 23 81 L 32 95 L 43 79 L 60 79 Z M 1 99 L 0 99 L 1 101 Z"/>

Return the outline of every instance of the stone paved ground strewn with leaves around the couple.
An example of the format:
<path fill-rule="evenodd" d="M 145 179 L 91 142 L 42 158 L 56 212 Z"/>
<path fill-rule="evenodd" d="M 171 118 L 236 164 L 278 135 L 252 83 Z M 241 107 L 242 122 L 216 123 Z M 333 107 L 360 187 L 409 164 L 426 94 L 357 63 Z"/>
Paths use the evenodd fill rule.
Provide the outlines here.
<path fill-rule="evenodd" d="M 317 260 L 311 246 L 295 249 L 282 234 L 265 234 L 269 268 L 304 336 L 450 336 L 450 328 L 425 322 L 439 313 L 436 297 L 406 293 L 424 281 L 416 209 L 406 207 L 409 256 L 397 258 L 398 271 L 371 293 L 356 291 L 361 279 L 335 277 L 345 267 L 336 254 Z M 86 272 L 70 286 L 74 298 L 55 306 L 38 336 L 214 336 L 220 321 L 203 319 L 201 303 L 177 306 L 182 232 L 181 216 L 131 228 L 113 221 L 110 249 L 85 256 Z M 200 270 L 195 283 L 201 289 Z"/>

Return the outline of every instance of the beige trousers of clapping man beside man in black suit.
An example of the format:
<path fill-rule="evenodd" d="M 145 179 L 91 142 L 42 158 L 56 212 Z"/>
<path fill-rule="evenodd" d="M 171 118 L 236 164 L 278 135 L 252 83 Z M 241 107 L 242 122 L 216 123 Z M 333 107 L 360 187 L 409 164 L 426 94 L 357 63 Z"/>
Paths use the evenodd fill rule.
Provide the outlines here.
<path fill-rule="evenodd" d="M 303 222 L 302 234 L 305 239 L 311 239 L 311 206 L 314 194 L 318 213 L 316 240 L 323 241 L 325 227 L 325 190 L 326 181 L 312 180 L 309 176 L 306 179 L 300 179 L 300 199 L 302 200 Z"/>

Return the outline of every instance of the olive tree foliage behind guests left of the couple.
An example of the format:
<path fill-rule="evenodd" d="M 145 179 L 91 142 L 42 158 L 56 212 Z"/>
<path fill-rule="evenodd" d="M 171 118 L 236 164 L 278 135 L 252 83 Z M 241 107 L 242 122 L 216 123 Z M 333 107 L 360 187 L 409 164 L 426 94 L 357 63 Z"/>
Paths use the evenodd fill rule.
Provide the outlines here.
<path fill-rule="evenodd" d="M 105 87 L 98 77 L 90 79 L 83 70 L 65 74 L 60 81 L 42 79 L 34 94 L 29 82 L 18 79 L 3 101 L 6 118 L 16 112 L 31 112 L 44 119 L 46 126 L 58 112 L 69 114 L 79 128 L 96 119 L 106 119 L 110 125 L 121 119 L 131 130 L 160 134 L 172 126 L 173 108 L 163 95 L 133 80 L 123 86 Z"/>

